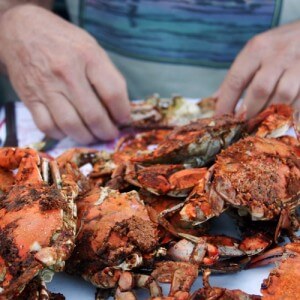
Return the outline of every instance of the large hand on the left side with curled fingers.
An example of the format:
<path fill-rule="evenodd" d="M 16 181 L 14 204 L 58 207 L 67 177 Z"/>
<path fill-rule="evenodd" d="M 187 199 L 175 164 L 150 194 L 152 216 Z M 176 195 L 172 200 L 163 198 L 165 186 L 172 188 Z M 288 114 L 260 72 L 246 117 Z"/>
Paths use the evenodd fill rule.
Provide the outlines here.
<path fill-rule="evenodd" d="M 22 5 L 0 21 L 0 60 L 40 130 L 89 144 L 118 135 L 129 120 L 126 83 L 85 31 Z"/>

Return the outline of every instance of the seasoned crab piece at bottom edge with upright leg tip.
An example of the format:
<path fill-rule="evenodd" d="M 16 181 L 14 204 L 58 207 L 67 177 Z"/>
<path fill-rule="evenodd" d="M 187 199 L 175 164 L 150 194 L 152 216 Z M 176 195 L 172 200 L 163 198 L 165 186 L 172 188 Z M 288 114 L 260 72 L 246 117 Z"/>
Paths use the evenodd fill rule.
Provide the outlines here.
<path fill-rule="evenodd" d="M 203 272 L 203 288 L 194 292 L 190 300 L 259 300 L 261 296 L 249 295 L 241 290 L 228 290 L 220 287 L 212 287 L 209 284 L 210 271 Z"/>

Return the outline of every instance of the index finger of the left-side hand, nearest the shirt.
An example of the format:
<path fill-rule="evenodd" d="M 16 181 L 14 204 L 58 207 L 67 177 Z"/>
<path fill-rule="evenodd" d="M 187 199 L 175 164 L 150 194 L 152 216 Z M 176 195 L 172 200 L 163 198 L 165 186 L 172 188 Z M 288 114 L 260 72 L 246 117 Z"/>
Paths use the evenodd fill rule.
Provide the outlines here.
<path fill-rule="evenodd" d="M 103 55 L 106 58 L 99 58 L 101 65 L 98 62 L 88 64 L 87 77 L 114 122 L 126 124 L 130 120 L 130 102 L 126 82 L 107 55 L 105 53 Z"/>

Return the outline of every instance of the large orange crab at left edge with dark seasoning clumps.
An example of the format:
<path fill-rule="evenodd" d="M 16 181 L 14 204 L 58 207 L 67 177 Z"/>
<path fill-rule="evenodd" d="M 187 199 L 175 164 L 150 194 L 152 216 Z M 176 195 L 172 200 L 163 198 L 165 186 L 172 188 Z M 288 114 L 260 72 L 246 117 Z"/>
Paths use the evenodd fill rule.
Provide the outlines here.
<path fill-rule="evenodd" d="M 63 269 L 74 247 L 78 187 L 73 171 L 60 175 L 55 161 L 32 149 L 2 148 L 0 168 L 10 178 L 1 186 L 0 298 L 10 299 L 44 269 Z"/>

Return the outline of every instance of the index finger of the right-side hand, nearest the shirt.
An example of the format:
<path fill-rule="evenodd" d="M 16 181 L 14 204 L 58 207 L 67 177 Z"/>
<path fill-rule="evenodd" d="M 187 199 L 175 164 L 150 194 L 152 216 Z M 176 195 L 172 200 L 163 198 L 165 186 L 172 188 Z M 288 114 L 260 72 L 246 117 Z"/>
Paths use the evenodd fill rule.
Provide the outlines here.
<path fill-rule="evenodd" d="M 234 111 L 244 89 L 260 67 L 260 59 L 246 46 L 237 56 L 217 94 L 216 114 Z"/>

